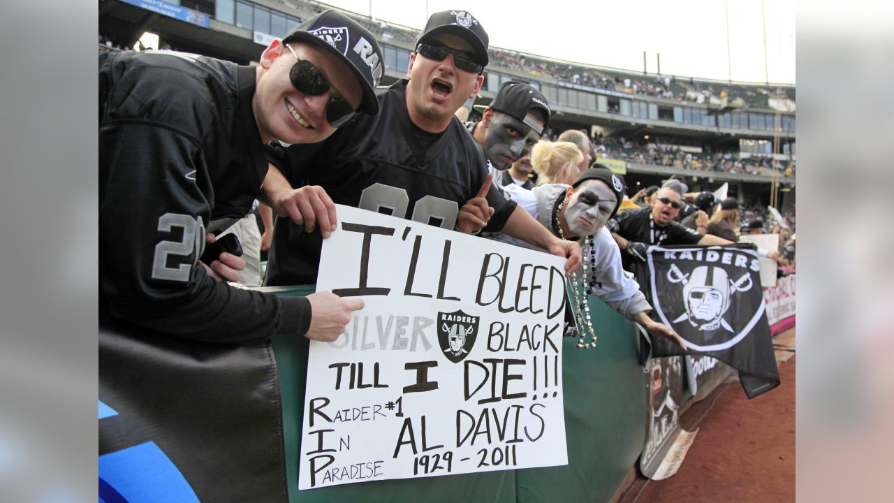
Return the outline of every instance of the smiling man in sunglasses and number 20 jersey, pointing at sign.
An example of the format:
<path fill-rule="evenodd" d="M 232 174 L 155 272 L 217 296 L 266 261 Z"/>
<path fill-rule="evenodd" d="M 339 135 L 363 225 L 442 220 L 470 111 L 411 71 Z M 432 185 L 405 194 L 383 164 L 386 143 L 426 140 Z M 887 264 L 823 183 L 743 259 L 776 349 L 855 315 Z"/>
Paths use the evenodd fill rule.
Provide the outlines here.
<path fill-rule="evenodd" d="M 325 140 L 378 112 L 382 53 L 328 11 L 274 40 L 257 67 L 172 51 L 99 55 L 100 318 L 215 342 L 334 340 L 362 302 L 234 289 L 244 261 L 198 261 L 268 175 L 267 141 Z M 274 173 L 274 175 L 277 175 Z M 202 264 L 201 266 L 199 264 Z M 311 315 L 312 313 L 312 315 Z"/>

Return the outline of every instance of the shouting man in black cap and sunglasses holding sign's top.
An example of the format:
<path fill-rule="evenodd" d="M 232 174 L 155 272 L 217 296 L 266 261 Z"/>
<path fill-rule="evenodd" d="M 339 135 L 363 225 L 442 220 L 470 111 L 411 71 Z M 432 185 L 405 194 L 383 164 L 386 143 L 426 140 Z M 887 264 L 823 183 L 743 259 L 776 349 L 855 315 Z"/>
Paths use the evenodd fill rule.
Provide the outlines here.
<path fill-rule="evenodd" d="M 481 88 L 487 40 L 468 12 L 432 14 L 407 79 L 377 91 L 379 115 L 360 116 L 323 143 L 271 153 L 306 202 L 292 217 L 303 227 L 276 223 L 266 285 L 316 282 L 322 240 L 336 224 L 333 202 L 466 233 L 490 224 L 488 230 L 525 236 L 578 269 L 578 244 L 550 234 L 492 186 L 485 158 L 454 116 Z M 276 190 L 266 184 L 265 191 Z"/>

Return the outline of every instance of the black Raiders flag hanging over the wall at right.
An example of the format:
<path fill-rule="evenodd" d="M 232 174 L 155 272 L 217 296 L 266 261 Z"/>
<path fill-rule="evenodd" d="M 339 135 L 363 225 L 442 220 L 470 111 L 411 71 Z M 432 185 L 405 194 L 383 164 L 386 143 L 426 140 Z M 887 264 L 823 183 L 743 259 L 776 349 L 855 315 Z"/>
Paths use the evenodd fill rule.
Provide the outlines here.
<path fill-rule="evenodd" d="M 652 318 L 676 330 L 690 353 L 737 369 L 749 398 L 779 386 L 752 245 L 652 246 L 648 268 L 638 269 Z M 667 339 L 651 342 L 654 356 L 685 354 Z"/>

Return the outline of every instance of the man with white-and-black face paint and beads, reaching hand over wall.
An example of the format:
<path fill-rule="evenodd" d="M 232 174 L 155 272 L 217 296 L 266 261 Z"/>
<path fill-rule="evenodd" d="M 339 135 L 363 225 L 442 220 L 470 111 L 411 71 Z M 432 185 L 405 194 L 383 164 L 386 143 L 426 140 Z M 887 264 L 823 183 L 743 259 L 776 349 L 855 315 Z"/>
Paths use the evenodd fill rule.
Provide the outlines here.
<path fill-rule="evenodd" d="M 618 245 L 605 228 L 606 222 L 618 212 L 623 188 L 620 177 L 601 164 L 586 169 L 570 186 L 547 183 L 533 191 L 514 184 L 506 187 L 513 200 L 552 234 L 584 243 L 587 294 L 599 297 L 650 335 L 666 337 L 685 349 L 683 340 L 672 328 L 649 318 L 652 306 L 640 292 L 637 281 L 625 273 Z M 502 234 L 495 239 L 524 246 Z"/>

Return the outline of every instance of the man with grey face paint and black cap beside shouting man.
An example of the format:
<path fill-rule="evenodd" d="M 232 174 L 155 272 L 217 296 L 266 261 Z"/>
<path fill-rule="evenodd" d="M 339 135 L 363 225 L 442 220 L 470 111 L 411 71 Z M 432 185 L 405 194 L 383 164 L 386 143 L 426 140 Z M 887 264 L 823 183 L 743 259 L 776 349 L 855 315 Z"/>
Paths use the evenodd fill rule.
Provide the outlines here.
<path fill-rule="evenodd" d="M 493 180 L 503 185 L 504 170 L 530 154 L 550 124 L 549 103 L 533 86 L 506 81 L 483 114 L 466 128 L 485 155 Z"/>

